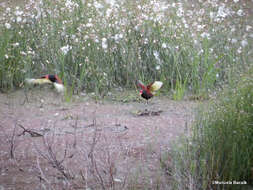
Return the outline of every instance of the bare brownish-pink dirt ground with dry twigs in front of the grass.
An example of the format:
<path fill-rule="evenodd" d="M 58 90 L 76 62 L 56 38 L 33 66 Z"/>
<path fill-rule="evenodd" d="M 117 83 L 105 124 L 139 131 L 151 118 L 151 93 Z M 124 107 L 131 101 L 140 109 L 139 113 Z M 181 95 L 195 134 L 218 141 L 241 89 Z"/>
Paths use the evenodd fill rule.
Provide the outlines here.
<path fill-rule="evenodd" d="M 199 104 L 87 96 L 66 103 L 49 88 L 27 97 L 0 94 L 0 190 L 168 189 L 160 160 Z"/>

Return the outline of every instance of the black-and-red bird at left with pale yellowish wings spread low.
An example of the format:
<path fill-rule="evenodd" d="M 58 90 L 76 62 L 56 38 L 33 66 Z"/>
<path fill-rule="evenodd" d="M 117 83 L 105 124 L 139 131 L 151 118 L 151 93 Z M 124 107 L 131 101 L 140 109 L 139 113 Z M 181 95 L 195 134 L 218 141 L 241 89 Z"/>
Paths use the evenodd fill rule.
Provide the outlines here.
<path fill-rule="evenodd" d="M 28 84 L 53 84 L 57 92 L 64 92 L 62 80 L 57 75 L 44 75 L 38 79 L 25 79 L 25 82 Z"/>

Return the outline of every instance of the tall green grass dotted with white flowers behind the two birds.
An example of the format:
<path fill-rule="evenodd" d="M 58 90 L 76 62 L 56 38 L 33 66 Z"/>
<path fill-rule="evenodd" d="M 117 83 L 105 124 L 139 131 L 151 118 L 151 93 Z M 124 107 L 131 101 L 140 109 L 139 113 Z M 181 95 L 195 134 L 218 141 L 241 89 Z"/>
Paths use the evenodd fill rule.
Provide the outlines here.
<path fill-rule="evenodd" d="M 237 15 L 247 5 L 112 2 L 42 0 L 5 8 L 0 88 L 56 73 L 68 89 L 100 95 L 134 88 L 137 79 L 161 80 L 164 91 L 181 99 L 186 90 L 208 96 L 229 81 L 235 65 L 250 65 L 252 38 L 239 30 L 247 14 Z"/>

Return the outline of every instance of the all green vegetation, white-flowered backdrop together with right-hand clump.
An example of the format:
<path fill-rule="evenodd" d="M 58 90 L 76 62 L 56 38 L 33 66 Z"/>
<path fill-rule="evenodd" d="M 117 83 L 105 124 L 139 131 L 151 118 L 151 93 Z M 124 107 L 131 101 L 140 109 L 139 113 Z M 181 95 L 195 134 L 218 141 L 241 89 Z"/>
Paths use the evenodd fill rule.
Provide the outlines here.
<path fill-rule="evenodd" d="M 182 151 L 175 151 L 175 167 L 163 166 L 178 189 L 235 188 L 214 186 L 214 180 L 250 183 L 252 1 L 1 5 L 2 91 L 22 87 L 25 78 L 56 73 L 70 93 L 104 95 L 116 87 L 134 89 L 140 79 L 163 81 L 163 94 L 172 92 L 175 100 L 186 93 L 199 99 L 217 95 Z"/>

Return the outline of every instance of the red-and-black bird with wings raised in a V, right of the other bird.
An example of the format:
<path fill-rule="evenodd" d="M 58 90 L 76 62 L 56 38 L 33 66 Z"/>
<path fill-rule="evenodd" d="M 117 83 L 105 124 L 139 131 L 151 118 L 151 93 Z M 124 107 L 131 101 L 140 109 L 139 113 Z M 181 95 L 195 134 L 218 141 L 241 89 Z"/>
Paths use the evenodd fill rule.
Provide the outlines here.
<path fill-rule="evenodd" d="M 137 81 L 137 85 L 141 87 L 140 95 L 142 98 L 148 100 L 152 98 L 157 90 L 159 90 L 163 83 L 161 81 L 155 81 L 145 86 L 141 81 Z"/>

